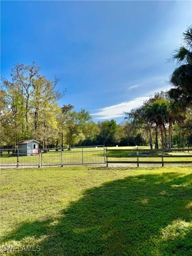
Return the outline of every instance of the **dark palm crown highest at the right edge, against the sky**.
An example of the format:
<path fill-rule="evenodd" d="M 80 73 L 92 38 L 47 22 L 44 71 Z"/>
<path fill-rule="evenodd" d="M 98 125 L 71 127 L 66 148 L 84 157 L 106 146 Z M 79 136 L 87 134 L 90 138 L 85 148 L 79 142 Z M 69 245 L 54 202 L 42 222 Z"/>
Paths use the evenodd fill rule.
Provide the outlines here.
<path fill-rule="evenodd" d="M 177 67 L 170 76 L 170 84 L 174 86 L 168 96 L 174 105 L 186 110 L 192 105 L 192 26 L 183 33 L 183 43 L 174 51 L 172 61 L 177 60 Z"/>

